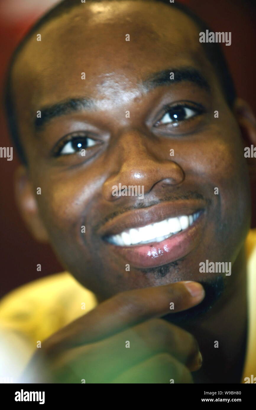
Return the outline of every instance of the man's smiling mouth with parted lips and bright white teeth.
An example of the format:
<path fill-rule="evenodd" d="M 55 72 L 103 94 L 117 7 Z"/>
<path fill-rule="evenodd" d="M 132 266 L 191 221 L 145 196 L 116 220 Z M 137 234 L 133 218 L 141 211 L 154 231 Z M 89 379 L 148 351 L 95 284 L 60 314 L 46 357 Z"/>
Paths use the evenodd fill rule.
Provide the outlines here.
<path fill-rule="evenodd" d="M 200 199 L 162 202 L 115 216 L 98 230 L 106 252 L 136 269 L 153 268 L 187 256 L 200 244 L 207 221 Z"/>

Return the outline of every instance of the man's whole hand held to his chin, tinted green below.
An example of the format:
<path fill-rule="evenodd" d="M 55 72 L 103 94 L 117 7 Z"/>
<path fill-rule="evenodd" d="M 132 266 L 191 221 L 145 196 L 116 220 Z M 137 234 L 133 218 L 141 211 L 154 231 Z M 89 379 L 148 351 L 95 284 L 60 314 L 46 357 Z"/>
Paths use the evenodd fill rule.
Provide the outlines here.
<path fill-rule="evenodd" d="M 204 296 L 196 282 L 121 292 L 46 339 L 25 374 L 31 383 L 193 383 L 196 339 L 160 317 Z"/>

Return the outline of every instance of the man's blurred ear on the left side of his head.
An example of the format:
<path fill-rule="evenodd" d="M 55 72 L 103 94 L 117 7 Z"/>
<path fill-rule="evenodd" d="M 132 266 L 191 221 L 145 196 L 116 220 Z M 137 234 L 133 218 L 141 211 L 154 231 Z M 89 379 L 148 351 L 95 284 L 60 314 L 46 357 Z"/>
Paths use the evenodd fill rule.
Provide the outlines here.
<path fill-rule="evenodd" d="M 19 166 L 15 173 L 15 198 L 23 221 L 35 239 L 48 242 L 48 234 L 39 216 L 37 201 L 25 166 Z"/>

